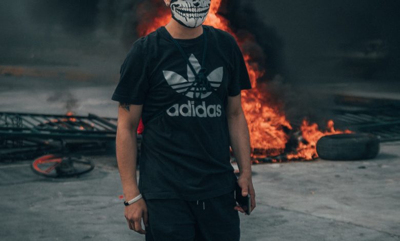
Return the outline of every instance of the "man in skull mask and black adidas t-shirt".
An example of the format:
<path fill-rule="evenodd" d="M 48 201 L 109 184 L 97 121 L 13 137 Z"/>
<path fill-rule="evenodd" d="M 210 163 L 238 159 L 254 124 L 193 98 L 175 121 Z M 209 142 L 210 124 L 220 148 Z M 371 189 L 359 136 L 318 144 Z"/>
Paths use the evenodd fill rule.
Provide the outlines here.
<path fill-rule="evenodd" d="M 236 206 L 236 183 L 255 208 L 240 94 L 251 88 L 243 55 L 230 34 L 203 26 L 210 0 L 164 2 L 170 23 L 132 45 L 112 96 L 119 102 L 116 156 L 125 217 L 146 240 L 239 240 L 238 211 L 245 210 Z"/>

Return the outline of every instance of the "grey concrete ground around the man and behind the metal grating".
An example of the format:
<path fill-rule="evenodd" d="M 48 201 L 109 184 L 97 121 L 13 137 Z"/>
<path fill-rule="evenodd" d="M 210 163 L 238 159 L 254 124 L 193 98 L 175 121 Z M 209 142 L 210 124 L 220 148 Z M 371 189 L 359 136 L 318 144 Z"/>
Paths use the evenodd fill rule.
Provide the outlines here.
<path fill-rule="evenodd" d="M 114 88 L 1 76 L 0 111 L 72 108 L 116 117 Z M 93 171 L 62 179 L 34 174 L 31 160 L 0 163 L 0 239 L 144 240 L 126 224 L 115 156 L 91 158 Z M 240 215 L 241 240 L 400 240 L 400 142 L 383 144 L 368 161 L 316 159 L 252 169 L 257 207 Z"/>

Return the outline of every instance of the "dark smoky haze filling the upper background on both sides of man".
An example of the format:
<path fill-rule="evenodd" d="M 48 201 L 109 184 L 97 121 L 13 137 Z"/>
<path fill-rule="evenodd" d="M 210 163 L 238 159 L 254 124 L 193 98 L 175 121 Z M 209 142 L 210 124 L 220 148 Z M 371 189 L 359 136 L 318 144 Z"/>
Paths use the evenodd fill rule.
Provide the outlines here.
<path fill-rule="evenodd" d="M 386 55 L 379 61 L 386 62 L 377 67 L 356 63 L 361 67 L 354 68 L 366 68 L 361 71 L 368 76 L 398 76 L 398 1 L 223 3 L 221 14 L 239 36 L 251 36 L 244 48 L 266 69 L 269 79 L 277 73 L 290 81 L 303 81 L 345 72 L 343 65 L 353 53 L 364 51 L 368 41 L 381 41 L 377 48 Z M 5 0 L 0 10 L 4 36 L 0 64 L 115 71 L 138 37 L 138 21 L 150 21 L 163 4 L 161 0 Z M 352 69 L 346 73 L 354 73 L 348 66 Z"/>

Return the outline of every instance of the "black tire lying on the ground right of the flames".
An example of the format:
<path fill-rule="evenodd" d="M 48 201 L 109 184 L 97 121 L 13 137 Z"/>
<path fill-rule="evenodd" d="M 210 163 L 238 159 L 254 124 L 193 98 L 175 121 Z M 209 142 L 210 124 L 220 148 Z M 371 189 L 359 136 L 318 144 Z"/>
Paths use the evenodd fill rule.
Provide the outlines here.
<path fill-rule="evenodd" d="M 316 151 L 327 160 L 372 159 L 379 153 L 379 139 L 370 134 L 327 135 L 318 140 Z"/>

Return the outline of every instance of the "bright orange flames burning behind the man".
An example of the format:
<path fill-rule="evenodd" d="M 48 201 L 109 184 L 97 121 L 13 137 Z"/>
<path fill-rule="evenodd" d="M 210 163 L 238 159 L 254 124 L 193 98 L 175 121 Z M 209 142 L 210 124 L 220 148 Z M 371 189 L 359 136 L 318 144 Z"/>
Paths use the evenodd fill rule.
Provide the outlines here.
<path fill-rule="evenodd" d="M 237 35 L 229 28 L 228 20 L 218 14 L 221 2 L 222 0 L 211 1 L 210 11 L 204 24 L 229 32 L 241 46 L 246 39 L 238 39 Z M 168 9 L 161 7 L 157 9 L 157 15 L 152 22 L 145 21 L 139 24 L 137 32 L 141 36 L 147 35 L 158 27 L 168 24 L 170 19 L 171 14 Z M 244 52 L 243 49 L 242 52 Z M 242 106 L 249 126 L 252 156 L 281 155 L 286 148 L 290 138 L 289 132 L 293 127 L 283 113 L 282 107 L 272 106 L 271 103 L 266 102 L 266 97 L 270 96 L 267 88 L 257 83 L 257 79 L 264 75 L 264 70 L 252 60 L 249 54 L 244 53 L 244 59 L 253 87 L 251 90 L 242 91 Z M 333 128 L 333 121 L 328 122 L 328 131 L 322 132 L 318 130 L 316 124 L 309 124 L 306 120 L 303 121 L 301 132 L 303 142 L 299 143 L 296 153 L 287 155 L 288 159 L 311 160 L 316 158 L 315 146 L 319 138 L 328 134 L 343 133 Z M 349 132 L 346 131 L 346 133 Z"/>

